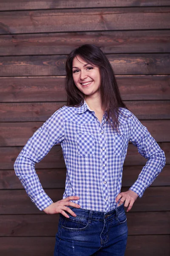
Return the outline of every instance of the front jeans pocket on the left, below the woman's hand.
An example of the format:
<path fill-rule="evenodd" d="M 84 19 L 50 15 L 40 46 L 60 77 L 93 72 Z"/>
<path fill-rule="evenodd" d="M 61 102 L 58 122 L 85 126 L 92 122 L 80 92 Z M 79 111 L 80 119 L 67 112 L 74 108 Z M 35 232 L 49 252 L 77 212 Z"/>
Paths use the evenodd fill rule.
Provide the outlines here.
<path fill-rule="evenodd" d="M 72 230 L 72 231 L 81 231 L 85 230 L 88 227 L 88 219 L 81 218 L 79 216 L 72 217 L 69 215 L 70 218 L 66 218 L 63 215 L 60 215 L 60 221 L 62 228 L 66 230 Z"/>

